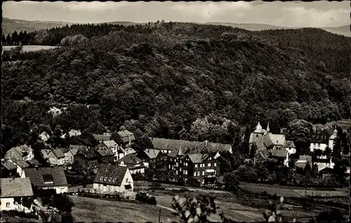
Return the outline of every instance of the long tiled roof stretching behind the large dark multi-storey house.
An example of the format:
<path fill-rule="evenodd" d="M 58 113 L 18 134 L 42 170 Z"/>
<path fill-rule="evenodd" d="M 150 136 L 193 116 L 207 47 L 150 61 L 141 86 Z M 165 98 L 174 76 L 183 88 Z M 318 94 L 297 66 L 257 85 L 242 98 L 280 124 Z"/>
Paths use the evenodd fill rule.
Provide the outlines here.
<path fill-rule="evenodd" d="M 230 151 L 230 144 L 219 144 L 212 142 L 197 142 L 197 141 L 185 141 L 185 140 L 169 140 L 163 138 L 150 138 L 154 149 L 174 151 L 182 148 L 183 151 L 201 151 L 207 149 L 208 151 Z"/>

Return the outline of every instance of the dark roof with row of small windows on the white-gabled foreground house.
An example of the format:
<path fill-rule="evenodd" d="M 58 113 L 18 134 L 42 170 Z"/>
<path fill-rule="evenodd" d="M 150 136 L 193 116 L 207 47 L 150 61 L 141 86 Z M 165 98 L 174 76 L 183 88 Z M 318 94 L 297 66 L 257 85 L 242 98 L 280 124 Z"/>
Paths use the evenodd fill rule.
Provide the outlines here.
<path fill-rule="evenodd" d="M 124 178 L 124 175 L 126 175 L 127 170 L 128 168 L 126 166 L 120 166 L 116 164 L 101 164 L 98 173 L 95 176 L 94 183 L 121 186 L 122 180 Z M 102 179 L 100 177 L 102 177 Z M 107 179 L 105 177 L 107 177 Z"/>

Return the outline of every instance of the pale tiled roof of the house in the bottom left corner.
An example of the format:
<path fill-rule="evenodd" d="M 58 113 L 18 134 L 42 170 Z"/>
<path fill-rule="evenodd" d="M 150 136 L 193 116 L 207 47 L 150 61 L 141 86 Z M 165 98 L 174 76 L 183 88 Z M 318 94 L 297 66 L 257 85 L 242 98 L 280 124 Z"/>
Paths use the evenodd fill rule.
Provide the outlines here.
<path fill-rule="evenodd" d="M 29 177 L 1 178 L 1 198 L 33 196 Z"/>

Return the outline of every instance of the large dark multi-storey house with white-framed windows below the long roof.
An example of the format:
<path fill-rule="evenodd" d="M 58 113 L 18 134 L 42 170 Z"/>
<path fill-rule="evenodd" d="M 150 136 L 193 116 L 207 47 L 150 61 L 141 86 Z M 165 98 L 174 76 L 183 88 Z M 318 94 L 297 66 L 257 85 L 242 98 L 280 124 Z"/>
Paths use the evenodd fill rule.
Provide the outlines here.
<path fill-rule="evenodd" d="M 195 177 L 201 186 L 216 187 L 217 177 L 220 174 L 220 163 L 209 154 L 186 154 L 182 158 L 183 172 L 180 174 L 185 179 Z"/>

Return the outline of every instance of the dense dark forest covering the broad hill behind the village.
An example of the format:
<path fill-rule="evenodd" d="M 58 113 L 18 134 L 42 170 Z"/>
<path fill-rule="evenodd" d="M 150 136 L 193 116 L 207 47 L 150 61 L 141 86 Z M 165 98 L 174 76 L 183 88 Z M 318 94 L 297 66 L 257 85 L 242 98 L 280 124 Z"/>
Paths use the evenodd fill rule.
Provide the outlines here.
<path fill-rule="evenodd" d="M 153 137 L 232 143 L 249 137 L 258 119 L 279 133 L 296 119 L 350 114 L 350 38 L 322 29 L 161 21 L 21 36 L 3 42 L 62 47 L 4 52 L 6 149 L 28 142 L 38 126 L 102 133 L 124 125 Z M 53 106 L 67 109 L 52 116 Z"/>

